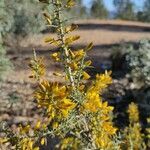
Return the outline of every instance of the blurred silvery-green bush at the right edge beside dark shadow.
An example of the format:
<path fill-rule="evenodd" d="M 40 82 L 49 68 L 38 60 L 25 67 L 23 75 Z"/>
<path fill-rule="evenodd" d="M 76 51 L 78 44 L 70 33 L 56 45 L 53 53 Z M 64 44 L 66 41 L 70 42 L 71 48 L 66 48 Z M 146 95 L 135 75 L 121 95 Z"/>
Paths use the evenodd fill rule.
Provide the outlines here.
<path fill-rule="evenodd" d="M 150 86 L 150 40 L 141 40 L 128 51 L 126 59 L 135 83 L 140 81 L 144 86 Z"/>

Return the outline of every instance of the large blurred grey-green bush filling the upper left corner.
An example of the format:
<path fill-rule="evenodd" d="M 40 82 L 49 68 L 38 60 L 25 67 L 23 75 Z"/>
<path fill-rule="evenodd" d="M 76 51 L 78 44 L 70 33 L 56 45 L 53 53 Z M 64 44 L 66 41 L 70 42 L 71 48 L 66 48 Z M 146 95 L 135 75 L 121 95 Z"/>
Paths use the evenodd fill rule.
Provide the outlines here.
<path fill-rule="evenodd" d="M 8 34 L 12 37 L 24 37 L 43 29 L 39 10 L 44 8 L 44 5 L 37 6 L 36 0 L 2 0 L 0 8 L 0 32 L 3 38 Z"/>

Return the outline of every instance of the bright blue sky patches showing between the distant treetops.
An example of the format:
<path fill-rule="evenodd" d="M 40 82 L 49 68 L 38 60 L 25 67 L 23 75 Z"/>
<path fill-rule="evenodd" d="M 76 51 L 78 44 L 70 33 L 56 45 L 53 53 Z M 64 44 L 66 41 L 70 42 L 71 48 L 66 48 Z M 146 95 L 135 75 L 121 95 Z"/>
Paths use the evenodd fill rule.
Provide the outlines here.
<path fill-rule="evenodd" d="M 90 6 L 90 3 L 92 1 L 93 0 L 83 0 L 83 3 L 86 4 L 87 6 Z M 137 9 L 142 8 L 144 0 L 132 0 L 132 1 L 136 4 Z M 113 0 L 104 0 L 104 3 L 110 11 L 114 10 Z"/>

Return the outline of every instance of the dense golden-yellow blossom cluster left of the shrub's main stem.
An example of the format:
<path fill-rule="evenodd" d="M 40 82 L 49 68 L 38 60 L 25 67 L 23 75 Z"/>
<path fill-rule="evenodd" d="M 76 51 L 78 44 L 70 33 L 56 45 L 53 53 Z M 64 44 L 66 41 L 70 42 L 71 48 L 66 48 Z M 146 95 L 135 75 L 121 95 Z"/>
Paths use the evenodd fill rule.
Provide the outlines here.
<path fill-rule="evenodd" d="M 75 103 L 68 99 L 67 96 L 66 86 L 48 81 L 41 82 L 39 89 L 35 92 L 38 104 L 47 109 L 51 119 L 55 116 L 66 117 L 69 111 L 75 107 Z"/>

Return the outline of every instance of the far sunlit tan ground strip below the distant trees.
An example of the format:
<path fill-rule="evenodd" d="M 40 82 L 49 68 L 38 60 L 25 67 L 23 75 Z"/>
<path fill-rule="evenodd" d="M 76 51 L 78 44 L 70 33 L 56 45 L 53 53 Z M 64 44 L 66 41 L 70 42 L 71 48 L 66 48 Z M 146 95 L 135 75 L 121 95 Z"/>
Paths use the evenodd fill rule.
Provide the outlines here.
<path fill-rule="evenodd" d="M 137 41 L 142 38 L 150 38 L 150 24 L 141 22 L 121 21 L 121 20 L 85 20 L 76 22 L 79 30 L 74 34 L 80 35 L 81 39 L 77 44 L 85 45 L 91 41 L 94 45 L 107 45 L 119 43 L 120 41 Z M 148 32 L 144 29 L 149 29 Z M 45 37 L 55 37 L 52 33 L 32 36 L 22 42 L 23 46 L 47 46 L 44 43 Z"/>

